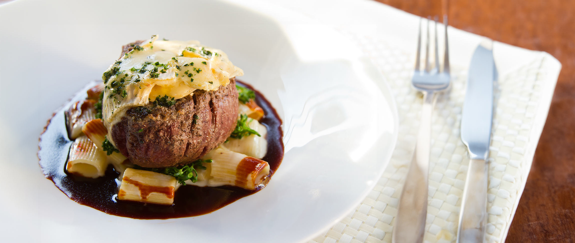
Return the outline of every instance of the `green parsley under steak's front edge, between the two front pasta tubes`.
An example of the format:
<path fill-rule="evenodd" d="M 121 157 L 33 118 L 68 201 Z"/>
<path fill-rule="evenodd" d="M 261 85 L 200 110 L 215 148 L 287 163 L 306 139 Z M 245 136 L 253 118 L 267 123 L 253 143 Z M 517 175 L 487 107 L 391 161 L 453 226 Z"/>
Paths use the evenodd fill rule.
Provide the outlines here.
<path fill-rule="evenodd" d="M 198 159 L 194 162 L 189 164 L 184 164 L 181 166 L 173 166 L 173 167 L 166 167 L 166 168 L 145 168 L 141 166 L 134 166 L 137 170 L 147 170 L 147 171 L 154 171 L 156 173 L 162 173 L 166 175 L 171 175 L 175 177 L 178 182 L 182 185 L 186 185 L 187 180 L 191 180 L 191 182 L 196 183 L 198 181 L 198 172 L 197 170 L 205 170 L 206 167 L 203 163 L 212 163 L 213 160 L 206 159 L 201 160 Z"/>

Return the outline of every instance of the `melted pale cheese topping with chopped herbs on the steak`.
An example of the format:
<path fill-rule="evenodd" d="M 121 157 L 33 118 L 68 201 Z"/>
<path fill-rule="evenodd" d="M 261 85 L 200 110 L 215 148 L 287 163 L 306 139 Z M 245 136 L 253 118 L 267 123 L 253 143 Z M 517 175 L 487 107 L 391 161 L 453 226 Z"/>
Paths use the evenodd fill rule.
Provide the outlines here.
<path fill-rule="evenodd" d="M 102 76 L 106 84 L 102 120 L 110 133 L 129 108 L 158 97 L 180 99 L 196 89 L 215 91 L 241 75 L 243 70 L 221 50 L 198 41 L 161 41 L 152 36 L 110 65 Z M 114 144 L 111 136 L 108 139 Z"/>

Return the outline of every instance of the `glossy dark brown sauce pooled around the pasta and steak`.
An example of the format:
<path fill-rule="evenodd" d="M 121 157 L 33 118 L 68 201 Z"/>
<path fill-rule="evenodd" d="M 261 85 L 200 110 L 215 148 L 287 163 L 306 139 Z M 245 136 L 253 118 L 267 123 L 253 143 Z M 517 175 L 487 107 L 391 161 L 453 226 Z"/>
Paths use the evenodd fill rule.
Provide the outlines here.
<path fill-rule="evenodd" d="M 251 85 L 241 81 L 237 81 L 237 84 L 254 89 Z M 259 188 L 255 191 L 248 191 L 232 186 L 198 187 L 186 185 L 179 187 L 176 191 L 172 206 L 145 205 L 143 203 L 117 201 L 116 194 L 120 181 L 116 179 L 118 173 L 113 170 L 112 166 L 108 167 L 104 177 L 96 179 L 67 174 L 65 166 L 72 141 L 68 138 L 64 110 L 70 104 L 85 99 L 86 95 L 81 94 L 85 94 L 88 88 L 83 89 L 70 103 L 55 112 L 40 136 L 40 151 L 38 152 L 40 167 L 45 177 L 51 179 L 70 199 L 104 213 L 152 220 L 191 217 L 211 213 L 237 201 L 237 199 L 261 190 Z M 273 175 L 283 158 L 282 121 L 262 93 L 255 89 L 254 91 L 256 103 L 262 107 L 265 113 L 260 123 L 267 127 L 267 154 L 262 160 L 270 164 L 270 175 Z"/>

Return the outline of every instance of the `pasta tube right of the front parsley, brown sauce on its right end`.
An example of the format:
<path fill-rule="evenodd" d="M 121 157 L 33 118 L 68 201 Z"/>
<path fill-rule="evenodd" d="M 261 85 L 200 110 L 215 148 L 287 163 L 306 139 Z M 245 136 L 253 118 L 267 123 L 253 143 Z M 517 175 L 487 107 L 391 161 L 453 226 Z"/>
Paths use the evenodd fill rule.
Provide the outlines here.
<path fill-rule="evenodd" d="M 238 186 L 255 190 L 267 183 L 270 165 L 258 158 L 233 152 L 225 148 L 216 148 L 206 155 L 212 163 L 204 163 L 209 173 L 208 186 Z"/>

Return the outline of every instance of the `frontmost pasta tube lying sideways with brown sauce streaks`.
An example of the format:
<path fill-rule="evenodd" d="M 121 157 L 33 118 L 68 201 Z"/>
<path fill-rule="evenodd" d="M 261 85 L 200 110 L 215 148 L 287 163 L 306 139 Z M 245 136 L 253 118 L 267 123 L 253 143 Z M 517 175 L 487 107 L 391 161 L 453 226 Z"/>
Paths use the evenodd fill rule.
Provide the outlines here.
<path fill-rule="evenodd" d="M 177 183 L 170 175 L 127 168 L 118 190 L 118 199 L 172 205 Z"/>

